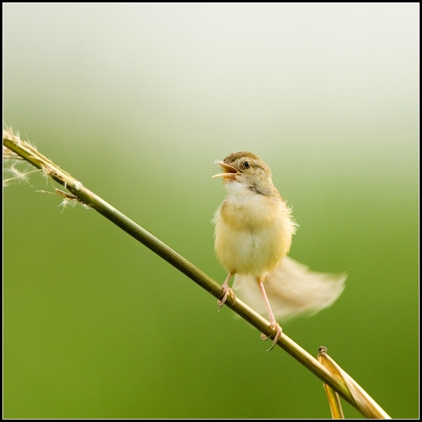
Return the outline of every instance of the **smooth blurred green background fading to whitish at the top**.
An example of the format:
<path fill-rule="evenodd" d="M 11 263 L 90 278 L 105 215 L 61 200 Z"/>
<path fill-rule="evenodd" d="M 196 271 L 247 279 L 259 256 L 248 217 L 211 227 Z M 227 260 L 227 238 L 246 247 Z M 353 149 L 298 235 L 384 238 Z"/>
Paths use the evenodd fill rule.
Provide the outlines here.
<path fill-rule="evenodd" d="M 220 283 L 213 161 L 260 155 L 300 224 L 290 256 L 349 274 L 285 333 L 418 417 L 418 4 L 3 11 L 6 124 Z M 330 417 L 290 355 L 40 189 L 4 190 L 4 417 Z"/>

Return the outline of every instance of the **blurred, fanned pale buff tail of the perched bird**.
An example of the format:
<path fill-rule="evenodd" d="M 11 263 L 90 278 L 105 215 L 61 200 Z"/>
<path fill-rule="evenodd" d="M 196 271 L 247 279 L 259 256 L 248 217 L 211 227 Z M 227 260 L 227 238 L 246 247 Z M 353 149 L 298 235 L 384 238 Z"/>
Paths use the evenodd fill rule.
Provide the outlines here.
<path fill-rule="evenodd" d="M 284 257 L 281 265 L 265 277 L 264 288 L 274 315 L 286 321 L 300 314 L 316 314 L 330 306 L 343 292 L 346 277 L 346 274 L 311 271 L 306 265 Z M 233 290 L 256 312 L 267 315 L 254 276 L 236 274 Z"/>

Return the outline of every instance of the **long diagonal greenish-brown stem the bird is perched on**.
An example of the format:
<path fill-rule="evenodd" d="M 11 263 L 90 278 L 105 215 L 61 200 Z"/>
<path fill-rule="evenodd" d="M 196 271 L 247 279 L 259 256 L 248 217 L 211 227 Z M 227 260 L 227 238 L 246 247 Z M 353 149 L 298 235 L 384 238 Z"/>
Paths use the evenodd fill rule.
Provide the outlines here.
<path fill-rule="evenodd" d="M 169 248 L 165 243 L 162 243 L 158 238 L 155 238 L 155 236 L 123 215 L 122 212 L 116 210 L 115 207 L 106 203 L 105 200 L 95 193 L 89 191 L 82 183 L 74 179 L 67 172 L 61 170 L 60 167 L 55 165 L 51 160 L 39 153 L 30 143 L 22 141 L 9 129 L 4 130 L 3 143 L 4 146 L 20 155 L 20 157 L 27 160 L 27 162 L 30 162 L 34 167 L 42 170 L 44 174 L 65 186 L 77 200 L 94 208 L 94 210 L 98 211 L 122 230 L 126 231 L 127 234 L 136 238 L 136 240 L 143 243 L 143 245 L 146 245 L 147 248 L 153 250 L 153 252 L 162 257 L 163 260 L 166 260 L 172 264 L 173 267 L 186 274 L 186 276 L 198 283 L 199 286 L 207 290 L 207 292 L 211 293 L 215 298 L 220 298 L 222 296 L 222 286 L 220 286 L 219 283 L 195 267 L 191 262 L 188 262 L 188 260 L 172 250 L 172 248 Z M 252 324 L 252 326 L 255 326 L 261 333 L 274 338 L 275 330 L 274 328 L 271 329 L 269 321 L 264 319 L 260 314 L 257 314 L 257 312 L 248 307 L 248 305 L 245 305 L 241 300 L 236 298 L 236 302 L 234 302 L 229 297 L 227 298 L 225 305 L 230 309 L 233 309 L 236 314 L 240 315 L 243 319 Z M 291 356 L 297 359 L 303 366 L 309 369 L 309 371 L 312 371 L 312 373 L 318 376 L 324 383 L 330 385 L 331 388 L 337 391 L 339 395 L 347 400 L 347 402 L 352 404 L 352 406 L 362 415 L 371 418 L 389 418 L 384 411 L 369 414 L 368 408 L 366 407 L 367 397 L 369 397 L 369 395 L 364 392 L 362 388 L 359 387 L 362 392 L 364 392 L 364 395 L 362 394 L 362 397 L 364 398 L 360 395 L 359 397 L 356 397 L 356 394 L 352 395 L 344 381 L 333 376 L 328 369 L 322 366 L 311 354 L 302 349 L 300 345 L 288 338 L 286 334 L 283 333 L 283 335 L 281 335 L 277 341 L 277 345 L 291 354 Z M 374 402 L 371 399 L 371 406 L 373 406 L 373 403 Z M 381 409 L 381 407 L 379 409 Z"/>

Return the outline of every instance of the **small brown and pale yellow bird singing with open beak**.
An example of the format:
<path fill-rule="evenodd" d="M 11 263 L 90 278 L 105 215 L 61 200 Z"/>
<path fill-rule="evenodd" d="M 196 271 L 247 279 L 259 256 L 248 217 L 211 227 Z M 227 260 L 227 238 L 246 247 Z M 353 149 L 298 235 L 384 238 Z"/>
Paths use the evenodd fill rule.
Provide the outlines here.
<path fill-rule="evenodd" d="M 221 309 L 229 296 L 236 301 L 238 294 L 258 313 L 267 312 L 274 329 L 271 350 L 282 335 L 276 317 L 286 321 L 330 306 L 343 292 L 347 276 L 311 271 L 287 256 L 298 224 L 274 186 L 271 170 L 257 155 L 237 151 L 215 163 L 223 171 L 213 177 L 222 178 L 227 191 L 212 219 L 215 252 L 229 271 L 218 305 Z M 271 336 L 262 333 L 261 338 Z"/>

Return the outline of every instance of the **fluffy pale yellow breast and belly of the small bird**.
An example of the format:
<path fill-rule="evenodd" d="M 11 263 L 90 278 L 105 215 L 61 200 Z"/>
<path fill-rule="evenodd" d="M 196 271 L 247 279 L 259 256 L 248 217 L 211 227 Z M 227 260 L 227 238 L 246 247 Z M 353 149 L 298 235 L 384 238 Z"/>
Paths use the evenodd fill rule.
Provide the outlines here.
<path fill-rule="evenodd" d="M 279 196 L 248 189 L 227 196 L 215 214 L 215 251 L 229 271 L 264 276 L 290 249 L 295 223 Z"/>

